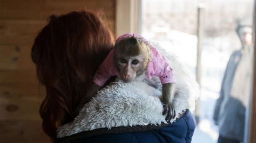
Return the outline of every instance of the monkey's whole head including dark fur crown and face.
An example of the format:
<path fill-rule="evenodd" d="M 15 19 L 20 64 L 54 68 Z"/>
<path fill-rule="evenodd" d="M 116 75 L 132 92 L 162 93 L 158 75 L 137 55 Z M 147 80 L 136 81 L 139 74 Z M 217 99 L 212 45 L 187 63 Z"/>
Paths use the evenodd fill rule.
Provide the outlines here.
<path fill-rule="evenodd" d="M 149 47 L 138 38 L 126 38 L 115 45 L 114 61 L 121 79 L 133 81 L 145 73 L 150 60 Z"/>

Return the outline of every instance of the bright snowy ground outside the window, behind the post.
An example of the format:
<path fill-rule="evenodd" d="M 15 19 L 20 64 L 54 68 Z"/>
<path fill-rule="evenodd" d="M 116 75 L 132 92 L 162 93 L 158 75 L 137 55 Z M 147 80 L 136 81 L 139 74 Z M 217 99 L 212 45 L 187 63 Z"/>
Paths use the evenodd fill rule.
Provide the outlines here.
<path fill-rule="evenodd" d="M 153 40 L 154 34 L 142 33 L 148 40 Z M 219 38 L 205 38 L 202 47 L 201 95 L 200 95 L 200 123 L 196 127 L 192 143 L 216 143 L 218 127 L 213 124 L 213 109 L 219 97 L 222 77 L 233 52 L 230 38 L 234 33 Z M 197 37 L 179 31 L 172 31 L 168 39 L 157 40 L 159 44 L 171 50 L 188 66 L 196 79 Z M 238 41 L 239 42 L 239 41 Z M 234 43 L 232 43 L 234 44 Z M 236 45 L 239 45 L 236 44 Z"/>

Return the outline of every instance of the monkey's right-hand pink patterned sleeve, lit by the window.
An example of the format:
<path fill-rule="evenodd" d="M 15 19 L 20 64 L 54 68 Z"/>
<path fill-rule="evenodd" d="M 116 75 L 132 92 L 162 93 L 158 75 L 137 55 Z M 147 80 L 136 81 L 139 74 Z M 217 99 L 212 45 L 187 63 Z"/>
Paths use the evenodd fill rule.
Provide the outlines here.
<path fill-rule="evenodd" d="M 170 66 L 168 59 L 155 48 L 152 54 L 152 61 L 148 64 L 147 68 L 147 78 L 150 79 L 155 75 L 159 77 L 161 84 L 175 83 L 174 70 Z"/>

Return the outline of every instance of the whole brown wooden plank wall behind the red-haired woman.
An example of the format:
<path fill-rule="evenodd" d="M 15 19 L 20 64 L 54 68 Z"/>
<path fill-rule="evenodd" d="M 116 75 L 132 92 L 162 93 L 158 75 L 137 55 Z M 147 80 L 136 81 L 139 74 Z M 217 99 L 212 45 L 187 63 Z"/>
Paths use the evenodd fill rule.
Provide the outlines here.
<path fill-rule="evenodd" d="M 81 9 L 104 12 L 114 32 L 115 0 L 0 0 L 0 143 L 49 142 L 31 45 L 48 16 Z"/>

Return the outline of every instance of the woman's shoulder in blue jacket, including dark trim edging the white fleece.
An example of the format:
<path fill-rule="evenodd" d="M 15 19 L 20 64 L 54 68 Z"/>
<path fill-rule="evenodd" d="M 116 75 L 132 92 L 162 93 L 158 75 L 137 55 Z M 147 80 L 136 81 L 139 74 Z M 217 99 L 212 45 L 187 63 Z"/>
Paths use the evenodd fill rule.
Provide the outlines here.
<path fill-rule="evenodd" d="M 96 129 L 74 134 L 58 141 L 65 143 L 165 143 L 191 142 L 196 122 L 193 115 L 187 110 L 179 120 L 172 124 L 158 126 L 115 127 L 112 129 Z M 56 142 L 58 142 L 56 141 Z"/>

